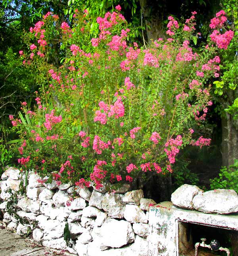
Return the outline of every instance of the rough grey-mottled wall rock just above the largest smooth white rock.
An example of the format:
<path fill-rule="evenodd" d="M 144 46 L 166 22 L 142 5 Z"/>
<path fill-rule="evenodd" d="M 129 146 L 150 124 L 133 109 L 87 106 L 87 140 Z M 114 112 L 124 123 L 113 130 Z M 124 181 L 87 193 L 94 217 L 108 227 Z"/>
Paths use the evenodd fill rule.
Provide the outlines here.
<path fill-rule="evenodd" d="M 102 199 L 102 209 L 112 218 L 122 219 L 125 211 L 125 203 L 122 202 L 123 195 L 106 193 Z"/>

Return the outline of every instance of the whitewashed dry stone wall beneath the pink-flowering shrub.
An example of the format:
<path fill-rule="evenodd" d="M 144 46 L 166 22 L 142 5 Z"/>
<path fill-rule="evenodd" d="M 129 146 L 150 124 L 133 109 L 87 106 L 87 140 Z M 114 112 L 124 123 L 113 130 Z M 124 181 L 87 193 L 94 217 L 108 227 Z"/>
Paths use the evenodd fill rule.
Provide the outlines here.
<path fill-rule="evenodd" d="M 68 250 L 79 256 L 148 256 L 148 217 L 151 199 L 143 198 L 142 190 L 130 190 L 124 184 L 113 193 L 95 188 L 79 188 L 72 184 L 40 184 L 40 178 L 31 172 L 26 194 L 19 195 L 21 180 L 18 169 L 9 168 L 0 181 L 4 213 L 8 229 L 19 235 L 33 231 L 33 239 L 44 246 Z M 9 188 L 12 190 L 10 193 Z M 7 202 L 16 194 L 13 204 L 19 219 L 7 212 Z M 27 222 L 27 223 L 25 223 Z M 63 238 L 68 223 L 72 248 Z"/>

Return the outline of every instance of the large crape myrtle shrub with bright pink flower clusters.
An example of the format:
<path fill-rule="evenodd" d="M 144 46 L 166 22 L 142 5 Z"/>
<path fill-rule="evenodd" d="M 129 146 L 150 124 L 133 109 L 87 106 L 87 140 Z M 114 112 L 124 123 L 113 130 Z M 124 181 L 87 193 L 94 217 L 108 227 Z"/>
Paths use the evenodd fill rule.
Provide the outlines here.
<path fill-rule="evenodd" d="M 43 82 L 35 109 L 23 102 L 19 118 L 10 119 L 21 138 L 19 164 L 48 182 L 143 184 L 172 173 L 186 145 L 210 144 L 193 128 L 212 105 L 207 81 L 219 77 L 217 47 L 227 48 L 233 37 L 221 32 L 225 13 L 211 20 L 207 45 L 194 52 L 196 12 L 183 25 L 169 16 L 170 38 L 140 48 L 127 40 L 133 31 L 120 10 L 98 17 L 96 38 L 86 10 L 76 10 L 70 25 L 47 13 L 25 34 L 23 65 Z M 65 51 L 59 68 L 48 64 L 56 43 Z"/>

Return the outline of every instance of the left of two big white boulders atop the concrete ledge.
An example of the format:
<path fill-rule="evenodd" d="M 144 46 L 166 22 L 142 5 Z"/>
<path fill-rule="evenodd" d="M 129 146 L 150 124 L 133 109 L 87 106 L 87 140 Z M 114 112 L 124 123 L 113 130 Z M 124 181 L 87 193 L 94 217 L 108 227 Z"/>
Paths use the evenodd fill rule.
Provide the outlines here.
<path fill-rule="evenodd" d="M 192 200 L 194 196 L 202 194 L 203 190 L 198 186 L 184 184 L 171 195 L 171 201 L 175 206 L 186 209 L 194 209 Z"/>

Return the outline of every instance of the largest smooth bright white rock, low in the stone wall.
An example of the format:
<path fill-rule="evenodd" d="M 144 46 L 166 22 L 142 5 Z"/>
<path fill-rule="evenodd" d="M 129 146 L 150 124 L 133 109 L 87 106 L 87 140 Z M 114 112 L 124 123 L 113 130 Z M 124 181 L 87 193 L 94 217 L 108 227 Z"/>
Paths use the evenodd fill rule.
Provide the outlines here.
<path fill-rule="evenodd" d="M 110 219 L 100 227 L 100 240 L 109 247 L 119 248 L 134 241 L 134 232 L 127 221 Z"/>

